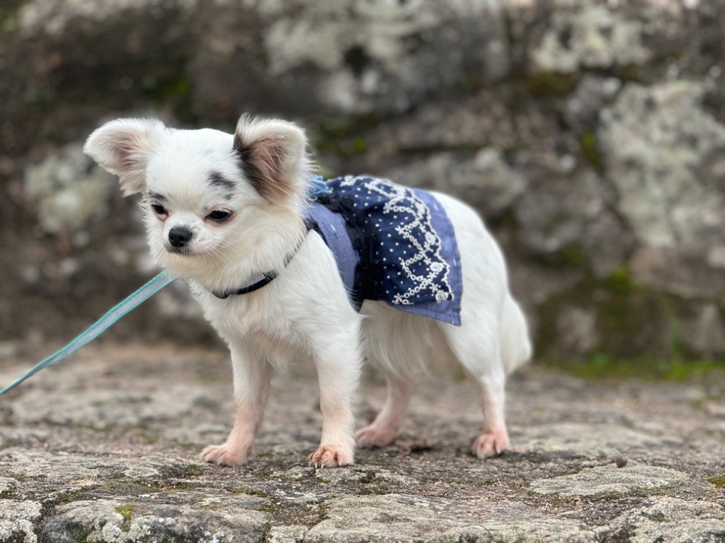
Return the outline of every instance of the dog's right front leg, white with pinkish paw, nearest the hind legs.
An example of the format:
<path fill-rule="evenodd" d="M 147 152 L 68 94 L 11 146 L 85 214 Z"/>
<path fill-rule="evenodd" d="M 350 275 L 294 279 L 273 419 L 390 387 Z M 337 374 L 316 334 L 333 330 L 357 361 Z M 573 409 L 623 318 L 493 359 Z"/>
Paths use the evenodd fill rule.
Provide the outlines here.
<path fill-rule="evenodd" d="M 322 439 L 310 455 L 315 468 L 347 466 L 355 461 L 355 417 L 352 398 L 360 379 L 360 339 L 357 332 L 326 342 L 315 355 L 320 381 Z"/>

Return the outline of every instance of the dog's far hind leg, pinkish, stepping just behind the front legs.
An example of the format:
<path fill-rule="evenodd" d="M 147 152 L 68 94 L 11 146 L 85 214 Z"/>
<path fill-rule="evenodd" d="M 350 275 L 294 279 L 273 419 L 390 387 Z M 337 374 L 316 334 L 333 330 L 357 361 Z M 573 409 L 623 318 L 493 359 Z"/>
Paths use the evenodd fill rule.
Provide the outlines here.
<path fill-rule="evenodd" d="M 413 394 L 413 384 L 399 376 L 386 372 L 388 397 L 378 416 L 372 424 L 360 429 L 357 434 L 357 445 L 360 447 L 384 447 L 395 438 L 400 421 Z"/>

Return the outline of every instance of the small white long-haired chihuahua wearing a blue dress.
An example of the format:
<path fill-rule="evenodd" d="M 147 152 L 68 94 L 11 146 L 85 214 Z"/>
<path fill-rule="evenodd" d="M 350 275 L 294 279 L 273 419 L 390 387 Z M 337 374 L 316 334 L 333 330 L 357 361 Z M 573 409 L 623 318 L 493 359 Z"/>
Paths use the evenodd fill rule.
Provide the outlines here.
<path fill-rule="evenodd" d="M 403 243 L 416 253 L 426 245 L 430 258 L 401 260 L 397 274 L 402 269 L 411 280 L 422 278 L 425 283 L 426 277 L 414 269 L 424 264 L 442 283 L 410 291 L 433 295 L 418 314 L 415 300 L 405 298 L 410 292 L 397 305 L 360 299 L 365 296 L 346 286 L 343 263 L 323 228 L 310 226 L 313 203 L 318 211 L 340 214 L 334 212 L 329 186 L 312 176 L 306 149 L 305 132 L 297 125 L 247 115 L 239 119 L 233 135 L 211 129 L 175 130 L 152 119 L 117 119 L 94 131 L 84 147 L 101 167 L 119 177 L 125 195 L 141 194 L 154 260 L 188 283 L 204 316 L 231 350 L 233 429 L 225 443 L 206 447 L 201 458 L 224 466 L 246 463 L 262 420 L 271 369 L 304 357 L 314 361 L 318 372 L 323 416 L 320 446 L 309 456 L 312 466 L 354 463 L 356 441 L 361 447 L 389 445 L 413 393 L 415 376 L 428 363 L 444 358 L 460 363 L 481 398 L 484 422 L 473 453 L 479 458 L 500 454 L 509 445 L 505 376 L 529 359 L 531 343 L 526 319 L 510 294 L 497 243 L 465 203 L 365 177 L 361 183 L 367 198 L 392 195 L 388 211 L 418 214 L 413 219 L 418 230 L 412 236 L 403 232 L 408 236 Z M 352 190 L 356 182 L 341 178 L 338 188 Z M 313 202 L 315 185 L 327 206 Z M 429 205 L 421 204 L 421 198 Z M 349 198 L 339 200 L 338 207 L 345 208 L 346 201 L 347 211 L 355 214 L 356 204 Z M 439 239 L 431 230 L 430 206 L 447 221 L 450 239 Z M 387 217 L 389 232 L 404 230 L 392 216 L 397 217 L 397 211 Z M 355 224 L 348 219 L 340 224 L 352 232 Z M 338 235 L 345 229 L 333 230 Z M 357 256 L 361 248 L 373 249 L 362 238 L 364 232 L 357 240 L 346 238 L 349 246 L 357 243 Z M 454 250 L 460 262 L 440 260 L 438 253 L 447 249 Z M 378 253 L 382 250 L 388 251 L 378 245 Z M 352 268 L 357 279 L 363 275 L 363 282 L 372 269 L 378 279 L 368 282 L 368 290 L 376 285 L 379 290 L 386 281 L 381 274 L 390 279 L 390 269 L 381 267 L 381 258 L 368 258 L 367 264 L 358 262 Z M 452 311 L 447 315 L 453 316 L 440 317 L 437 304 L 448 304 Z M 375 420 L 355 434 L 351 404 L 364 358 L 384 373 L 387 398 Z"/>

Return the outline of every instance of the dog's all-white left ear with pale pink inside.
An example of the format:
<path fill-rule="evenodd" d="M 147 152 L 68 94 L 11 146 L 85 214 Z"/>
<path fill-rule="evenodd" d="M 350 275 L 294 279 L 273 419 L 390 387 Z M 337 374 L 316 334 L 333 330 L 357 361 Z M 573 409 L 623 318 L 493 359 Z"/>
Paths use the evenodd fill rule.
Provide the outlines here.
<path fill-rule="evenodd" d="M 128 196 L 144 190 L 146 164 L 164 132 L 164 124 L 154 119 L 116 119 L 88 136 L 83 152 L 116 174 Z"/>

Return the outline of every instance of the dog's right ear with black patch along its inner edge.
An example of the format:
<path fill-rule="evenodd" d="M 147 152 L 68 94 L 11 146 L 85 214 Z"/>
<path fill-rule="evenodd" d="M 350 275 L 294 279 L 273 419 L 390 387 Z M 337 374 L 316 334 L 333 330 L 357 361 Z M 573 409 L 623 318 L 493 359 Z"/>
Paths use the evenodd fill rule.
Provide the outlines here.
<path fill-rule="evenodd" d="M 278 119 L 255 120 L 244 114 L 234 132 L 234 151 L 244 172 L 271 202 L 289 201 L 303 190 L 306 144 L 302 128 Z"/>

